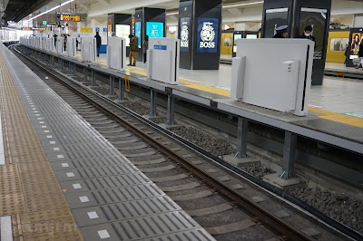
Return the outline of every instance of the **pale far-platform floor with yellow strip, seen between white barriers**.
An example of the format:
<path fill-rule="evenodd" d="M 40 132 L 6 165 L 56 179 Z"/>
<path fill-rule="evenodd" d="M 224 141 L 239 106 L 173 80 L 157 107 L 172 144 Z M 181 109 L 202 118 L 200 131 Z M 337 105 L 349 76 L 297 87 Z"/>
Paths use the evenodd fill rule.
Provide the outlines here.
<path fill-rule="evenodd" d="M 98 63 L 106 65 L 106 54 L 101 54 Z M 341 64 L 327 64 L 327 67 L 344 71 Z M 127 67 L 130 72 L 146 76 L 146 64 L 138 62 L 136 67 Z M 351 70 L 348 70 L 351 71 Z M 357 71 L 363 74 L 363 71 Z M 221 64 L 218 71 L 190 71 L 180 69 L 179 82 L 182 86 L 220 95 L 231 96 L 231 65 Z M 195 92 L 195 91 L 192 91 Z M 322 86 L 312 86 L 309 111 L 319 118 L 363 128 L 363 82 L 348 81 L 326 76 Z"/>

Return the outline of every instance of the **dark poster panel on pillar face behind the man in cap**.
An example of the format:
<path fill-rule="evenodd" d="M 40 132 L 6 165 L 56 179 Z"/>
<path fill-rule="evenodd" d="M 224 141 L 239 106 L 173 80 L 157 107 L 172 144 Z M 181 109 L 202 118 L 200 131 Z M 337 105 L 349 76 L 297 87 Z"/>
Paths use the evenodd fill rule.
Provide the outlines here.
<path fill-rule="evenodd" d="M 276 28 L 288 24 L 289 8 L 267 9 L 265 17 L 265 38 L 272 38 Z"/>

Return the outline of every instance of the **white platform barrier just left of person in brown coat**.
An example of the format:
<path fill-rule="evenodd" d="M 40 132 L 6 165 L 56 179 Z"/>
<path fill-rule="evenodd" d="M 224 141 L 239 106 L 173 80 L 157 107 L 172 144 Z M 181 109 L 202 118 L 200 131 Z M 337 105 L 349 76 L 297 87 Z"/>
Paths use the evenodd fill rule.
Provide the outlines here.
<path fill-rule="evenodd" d="M 124 71 L 126 64 L 126 39 L 109 37 L 107 44 L 107 65 L 115 70 Z"/>

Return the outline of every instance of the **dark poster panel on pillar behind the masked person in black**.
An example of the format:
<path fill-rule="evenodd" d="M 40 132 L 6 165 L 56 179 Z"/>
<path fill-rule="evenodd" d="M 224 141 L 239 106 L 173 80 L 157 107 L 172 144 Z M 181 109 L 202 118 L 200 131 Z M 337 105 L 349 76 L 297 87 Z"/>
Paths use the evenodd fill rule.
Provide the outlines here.
<path fill-rule="evenodd" d="M 299 34 L 302 38 L 309 38 L 315 42 L 314 59 L 321 59 L 323 57 L 327 13 L 327 9 L 301 8 Z M 309 37 L 304 35 L 304 30 L 307 26 L 312 27 Z"/>

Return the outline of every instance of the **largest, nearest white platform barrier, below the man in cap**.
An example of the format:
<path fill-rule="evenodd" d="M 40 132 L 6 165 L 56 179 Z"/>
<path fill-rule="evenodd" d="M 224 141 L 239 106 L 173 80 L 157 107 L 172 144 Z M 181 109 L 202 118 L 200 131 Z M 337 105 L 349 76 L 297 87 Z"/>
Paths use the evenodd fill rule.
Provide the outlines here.
<path fill-rule="evenodd" d="M 232 61 L 231 98 L 298 116 L 308 114 L 314 42 L 240 39 Z"/>

